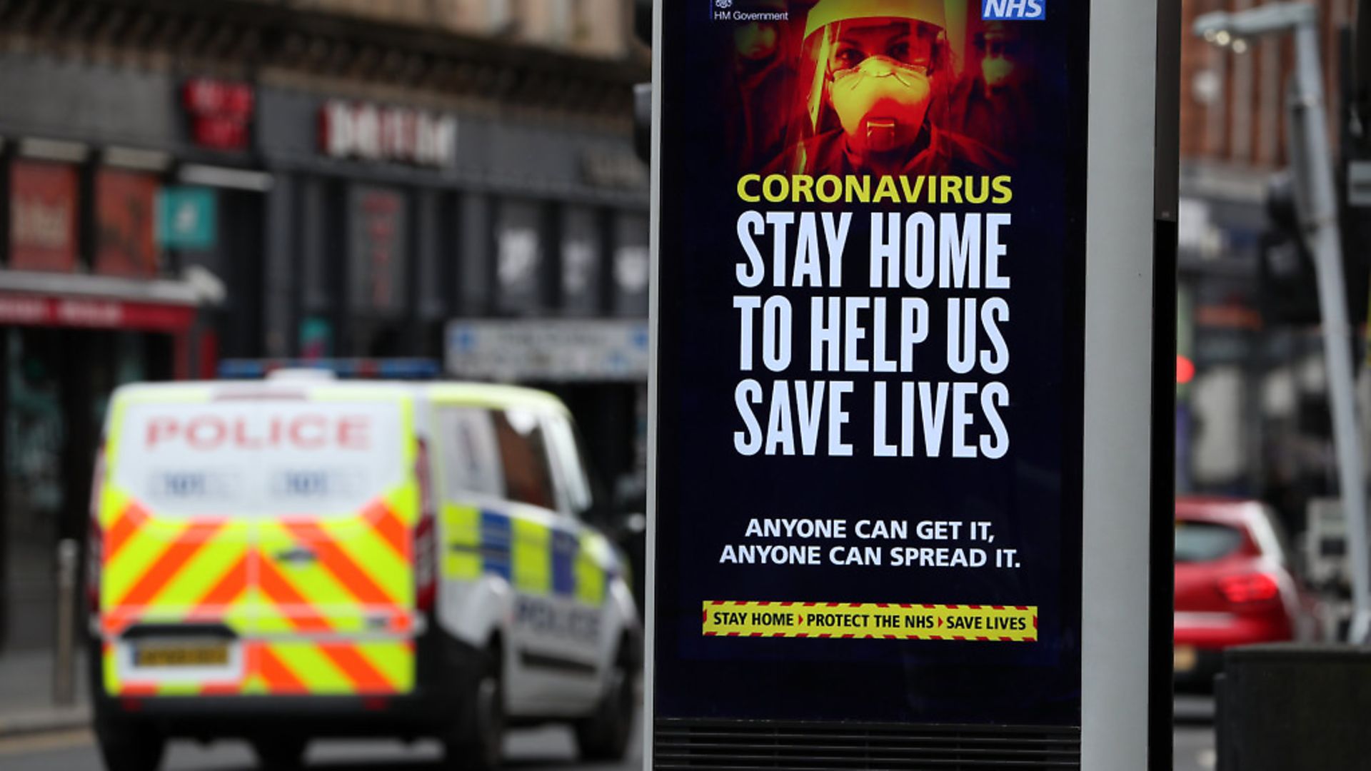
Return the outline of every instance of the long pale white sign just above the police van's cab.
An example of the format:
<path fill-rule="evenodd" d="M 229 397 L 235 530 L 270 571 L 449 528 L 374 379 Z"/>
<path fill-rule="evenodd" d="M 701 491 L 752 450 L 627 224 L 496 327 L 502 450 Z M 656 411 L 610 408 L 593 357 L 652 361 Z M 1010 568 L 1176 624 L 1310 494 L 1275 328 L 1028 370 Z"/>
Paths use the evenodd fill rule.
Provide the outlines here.
<path fill-rule="evenodd" d="M 647 324 L 617 320 L 454 320 L 447 372 L 500 381 L 647 380 Z"/>

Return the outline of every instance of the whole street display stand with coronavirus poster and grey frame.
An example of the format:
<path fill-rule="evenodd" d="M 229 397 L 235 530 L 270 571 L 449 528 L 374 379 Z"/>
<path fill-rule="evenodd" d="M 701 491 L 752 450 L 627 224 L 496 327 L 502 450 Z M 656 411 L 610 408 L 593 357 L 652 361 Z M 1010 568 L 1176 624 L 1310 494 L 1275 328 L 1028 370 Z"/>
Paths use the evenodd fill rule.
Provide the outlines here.
<path fill-rule="evenodd" d="M 1152 81 L 1095 96 L 1094 64 L 1157 44 L 1091 25 L 1156 7 L 707 5 L 655 4 L 646 767 L 801 763 L 813 735 L 831 767 L 897 735 L 957 766 L 941 741 L 1028 752 L 1089 715 L 1084 767 L 1142 768 L 1169 685 L 1149 639 L 1171 648 L 1169 623 L 1149 638 L 1169 597 L 1130 591 L 1169 571 L 1149 541 L 1169 464 L 1148 503 L 1161 188 Z M 1137 687 L 1090 683 L 1116 674 Z M 1128 737 L 1117 764 L 1106 737 Z"/>

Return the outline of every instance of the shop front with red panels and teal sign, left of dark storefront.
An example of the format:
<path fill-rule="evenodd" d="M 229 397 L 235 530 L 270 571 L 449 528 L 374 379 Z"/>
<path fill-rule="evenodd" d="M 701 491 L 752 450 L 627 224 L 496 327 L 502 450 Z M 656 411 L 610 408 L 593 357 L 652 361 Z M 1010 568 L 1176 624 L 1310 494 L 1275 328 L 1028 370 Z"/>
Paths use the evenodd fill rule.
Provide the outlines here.
<path fill-rule="evenodd" d="M 25 650 L 51 645 L 112 388 L 251 346 L 260 191 L 218 182 L 262 176 L 247 84 L 7 54 L 0 89 L 0 650 Z"/>

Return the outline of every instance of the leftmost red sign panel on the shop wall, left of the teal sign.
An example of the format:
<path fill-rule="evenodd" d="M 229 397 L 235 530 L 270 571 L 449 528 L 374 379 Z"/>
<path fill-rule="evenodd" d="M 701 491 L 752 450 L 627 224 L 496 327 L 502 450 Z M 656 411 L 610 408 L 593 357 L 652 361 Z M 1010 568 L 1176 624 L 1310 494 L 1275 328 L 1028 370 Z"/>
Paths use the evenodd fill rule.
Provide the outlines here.
<path fill-rule="evenodd" d="M 10 268 L 69 272 L 75 261 L 75 166 L 15 159 L 10 166 Z"/>

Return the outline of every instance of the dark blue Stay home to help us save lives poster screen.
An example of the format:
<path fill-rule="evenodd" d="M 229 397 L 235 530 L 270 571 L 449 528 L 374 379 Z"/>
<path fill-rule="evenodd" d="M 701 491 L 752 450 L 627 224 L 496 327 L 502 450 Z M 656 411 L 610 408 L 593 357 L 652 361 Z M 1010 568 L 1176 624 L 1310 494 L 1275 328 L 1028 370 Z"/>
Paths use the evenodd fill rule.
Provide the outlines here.
<path fill-rule="evenodd" d="M 1087 4 L 990 5 L 661 4 L 657 717 L 1080 724 Z M 847 215 L 838 272 L 824 214 Z M 816 298 L 845 313 L 816 322 Z M 856 535 L 876 520 L 908 534 Z M 836 564 L 854 547 L 868 564 Z M 729 637 L 717 601 L 1031 606 L 1036 628 Z"/>

